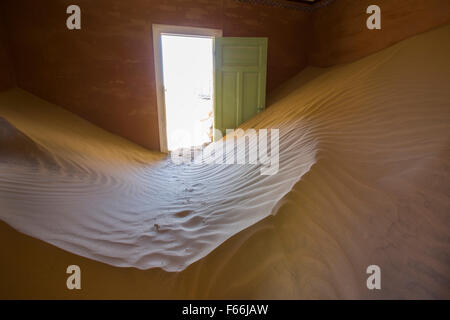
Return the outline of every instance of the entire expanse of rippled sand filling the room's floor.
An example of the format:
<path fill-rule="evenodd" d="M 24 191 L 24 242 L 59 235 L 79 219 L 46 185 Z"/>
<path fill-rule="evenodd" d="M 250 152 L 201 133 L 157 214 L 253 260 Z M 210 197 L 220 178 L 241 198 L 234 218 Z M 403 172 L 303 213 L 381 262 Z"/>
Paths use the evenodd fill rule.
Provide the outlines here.
<path fill-rule="evenodd" d="M 86 262 L 115 274 L 113 297 L 449 298 L 449 38 L 446 26 L 287 83 L 242 126 L 280 129 L 273 176 L 175 165 L 1 93 L 0 218 L 82 257 L 165 270 Z"/>

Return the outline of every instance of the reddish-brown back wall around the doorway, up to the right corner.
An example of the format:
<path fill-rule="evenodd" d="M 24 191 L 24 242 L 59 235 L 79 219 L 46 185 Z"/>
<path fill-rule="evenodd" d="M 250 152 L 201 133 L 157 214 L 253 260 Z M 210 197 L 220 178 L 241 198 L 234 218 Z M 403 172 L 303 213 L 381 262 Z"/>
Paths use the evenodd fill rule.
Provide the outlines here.
<path fill-rule="evenodd" d="M 65 27 L 77 4 L 82 29 Z M 18 86 L 159 149 L 152 23 L 269 38 L 268 92 L 307 62 L 310 15 L 234 0 L 3 0 Z"/>

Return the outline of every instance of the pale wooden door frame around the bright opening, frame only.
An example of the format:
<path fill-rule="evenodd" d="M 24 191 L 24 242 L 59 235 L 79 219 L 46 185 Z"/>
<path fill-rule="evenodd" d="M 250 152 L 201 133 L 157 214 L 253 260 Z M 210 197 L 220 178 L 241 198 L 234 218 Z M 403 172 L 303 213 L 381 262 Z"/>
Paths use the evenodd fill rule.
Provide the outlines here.
<path fill-rule="evenodd" d="M 155 60 L 156 100 L 158 104 L 158 126 L 160 151 L 167 153 L 166 103 L 163 79 L 161 35 L 184 35 L 194 37 L 222 37 L 222 30 L 153 24 L 153 52 Z M 214 68 L 213 68 L 214 70 Z M 214 79 L 214 76 L 213 76 Z M 214 80 L 213 80 L 214 81 Z M 214 100 L 212 100 L 214 101 Z"/>

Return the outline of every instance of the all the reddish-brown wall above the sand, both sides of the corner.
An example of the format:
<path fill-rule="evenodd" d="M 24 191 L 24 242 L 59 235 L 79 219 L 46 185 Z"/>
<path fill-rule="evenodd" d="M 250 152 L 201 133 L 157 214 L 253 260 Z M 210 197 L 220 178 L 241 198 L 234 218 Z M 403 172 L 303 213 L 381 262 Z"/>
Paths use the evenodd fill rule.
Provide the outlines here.
<path fill-rule="evenodd" d="M 74 3 L 80 31 L 65 27 Z M 365 27 L 370 4 L 382 9 L 382 30 Z M 336 0 L 309 14 L 235 0 L 3 0 L 0 13 L 19 87 L 158 150 L 152 23 L 268 37 L 270 94 L 307 63 L 353 61 L 447 23 L 450 1 Z M 0 41 L 0 89 L 14 79 L 8 66 Z"/>

